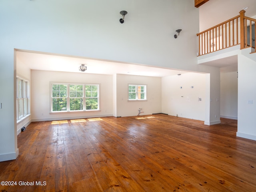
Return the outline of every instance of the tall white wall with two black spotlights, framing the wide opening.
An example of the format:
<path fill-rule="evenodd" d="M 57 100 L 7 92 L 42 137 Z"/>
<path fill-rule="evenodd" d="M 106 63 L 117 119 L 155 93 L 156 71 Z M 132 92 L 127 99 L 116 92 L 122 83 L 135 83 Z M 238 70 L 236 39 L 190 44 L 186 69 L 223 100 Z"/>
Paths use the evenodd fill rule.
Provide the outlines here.
<path fill-rule="evenodd" d="M 121 10 L 128 11 L 123 24 Z M 0 160 L 18 152 L 15 48 L 216 73 L 197 64 L 199 10 L 192 0 L 2 0 L 0 25 Z M 213 80 L 210 94 L 215 97 L 219 80 Z M 219 106 L 209 104 L 208 109 L 212 120 Z M 32 118 L 39 118 L 42 112 L 33 110 Z"/>

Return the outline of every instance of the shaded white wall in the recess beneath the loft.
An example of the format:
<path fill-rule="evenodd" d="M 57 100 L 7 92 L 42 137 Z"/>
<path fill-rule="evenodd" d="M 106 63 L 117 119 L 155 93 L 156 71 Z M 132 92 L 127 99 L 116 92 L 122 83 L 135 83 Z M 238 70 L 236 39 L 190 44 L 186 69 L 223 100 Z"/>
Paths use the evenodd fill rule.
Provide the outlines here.
<path fill-rule="evenodd" d="M 220 116 L 237 119 L 238 78 L 237 65 L 227 66 L 220 71 Z"/>

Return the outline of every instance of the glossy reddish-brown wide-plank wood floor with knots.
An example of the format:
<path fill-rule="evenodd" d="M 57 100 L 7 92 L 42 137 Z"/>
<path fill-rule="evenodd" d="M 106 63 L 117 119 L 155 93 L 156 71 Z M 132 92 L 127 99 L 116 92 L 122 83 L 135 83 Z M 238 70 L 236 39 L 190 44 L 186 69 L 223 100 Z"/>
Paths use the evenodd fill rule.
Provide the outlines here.
<path fill-rule="evenodd" d="M 0 191 L 256 191 L 256 141 L 236 137 L 236 120 L 221 122 L 164 114 L 33 122 L 18 135 L 18 158 L 0 162 L 0 181 L 14 182 Z"/>

